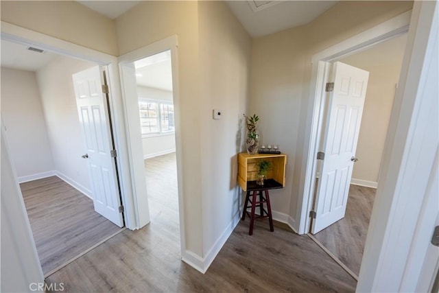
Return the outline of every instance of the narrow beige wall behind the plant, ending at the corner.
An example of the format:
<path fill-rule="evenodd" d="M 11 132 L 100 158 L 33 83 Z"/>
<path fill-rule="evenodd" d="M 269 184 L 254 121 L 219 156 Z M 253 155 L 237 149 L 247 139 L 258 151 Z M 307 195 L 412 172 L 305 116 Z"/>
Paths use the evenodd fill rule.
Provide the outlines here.
<path fill-rule="evenodd" d="M 307 44 L 304 27 L 256 38 L 252 44 L 248 114 L 259 115 L 261 143 L 278 144 L 287 154 L 287 184 L 270 198 L 272 209 L 285 214 L 293 188 Z"/>

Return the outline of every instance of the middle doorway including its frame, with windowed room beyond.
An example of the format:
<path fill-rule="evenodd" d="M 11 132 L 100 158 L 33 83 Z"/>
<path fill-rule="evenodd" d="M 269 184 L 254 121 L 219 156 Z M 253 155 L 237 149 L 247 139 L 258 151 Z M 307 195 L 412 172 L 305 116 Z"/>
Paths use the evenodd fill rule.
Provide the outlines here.
<path fill-rule="evenodd" d="M 149 224 L 169 241 L 169 253 L 185 251 L 177 39 L 171 36 L 119 57 L 129 128 L 138 228 Z"/>

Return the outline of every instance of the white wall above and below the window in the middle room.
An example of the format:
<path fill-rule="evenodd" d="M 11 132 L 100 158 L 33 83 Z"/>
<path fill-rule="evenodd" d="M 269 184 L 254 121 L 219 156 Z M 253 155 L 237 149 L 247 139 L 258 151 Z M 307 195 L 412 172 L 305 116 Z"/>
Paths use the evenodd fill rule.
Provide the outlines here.
<path fill-rule="evenodd" d="M 137 86 L 139 99 L 153 101 L 174 102 L 172 92 L 162 89 L 153 89 L 147 86 Z M 175 132 L 169 134 L 159 134 L 142 138 L 143 159 L 169 154 L 176 151 Z"/>

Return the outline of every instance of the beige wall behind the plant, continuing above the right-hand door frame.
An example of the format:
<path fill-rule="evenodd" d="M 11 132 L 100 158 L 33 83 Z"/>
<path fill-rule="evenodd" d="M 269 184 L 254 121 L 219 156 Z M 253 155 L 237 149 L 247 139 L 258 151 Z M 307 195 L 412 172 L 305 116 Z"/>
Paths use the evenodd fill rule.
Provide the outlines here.
<path fill-rule="evenodd" d="M 274 211 L 296 218 L 313 54 L 411 8 L 411 1 L 340 1 L 308 25 L 253 40 L 249 113 L 261 115 L 263 143 L 278 143 L 289 158 Z"/>

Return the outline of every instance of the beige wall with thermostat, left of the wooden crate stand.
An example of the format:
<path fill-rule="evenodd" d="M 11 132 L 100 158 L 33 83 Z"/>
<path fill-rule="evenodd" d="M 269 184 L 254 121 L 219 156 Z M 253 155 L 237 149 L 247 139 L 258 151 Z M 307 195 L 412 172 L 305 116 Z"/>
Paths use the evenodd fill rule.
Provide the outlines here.
<path fill-rule="evenodd" d="M 200 1 L 198 10 L 202 219 L 206 256 L 230 228 L 241 204 L 236 183 L 237 152 L 241 151 L 241 137 L 244 137 L 240 119 L 246 113 L 248 101 L 251 39 L 224 2 Z M 222 119 L 212 118 L 214 108 L 223 111 Z"/>

